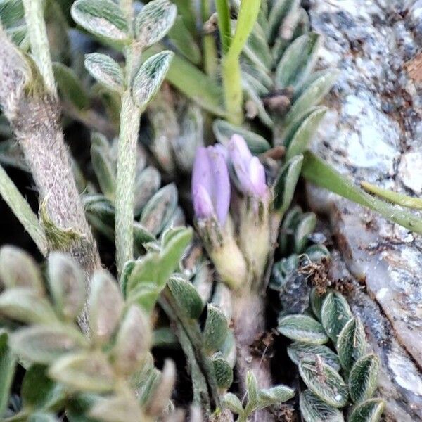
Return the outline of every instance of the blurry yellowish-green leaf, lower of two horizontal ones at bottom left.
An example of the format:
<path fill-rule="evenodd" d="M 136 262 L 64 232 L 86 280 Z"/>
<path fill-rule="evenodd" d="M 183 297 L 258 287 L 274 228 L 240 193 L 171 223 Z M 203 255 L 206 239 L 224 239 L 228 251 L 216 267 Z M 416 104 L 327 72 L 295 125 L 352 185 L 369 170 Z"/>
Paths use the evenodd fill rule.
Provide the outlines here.
<path fill-rule="evenodd" d="M 101 352 L 66 354 L 50 366 L 49 376 L 86 392 L 112 391 L 115 384 L 113 369 Z"/>

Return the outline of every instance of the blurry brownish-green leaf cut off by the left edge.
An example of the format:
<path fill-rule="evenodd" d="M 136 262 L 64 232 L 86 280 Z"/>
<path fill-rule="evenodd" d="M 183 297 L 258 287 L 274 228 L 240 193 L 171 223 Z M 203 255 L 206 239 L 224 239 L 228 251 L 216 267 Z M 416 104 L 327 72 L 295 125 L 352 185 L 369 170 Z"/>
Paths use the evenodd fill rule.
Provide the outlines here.
<path fill-rule="evenodd" d="M 0 249 L 0 283 L 7 288 L 29 288 L 39 296 L 45 292 L 37 263 L 29 254 L 14 246 Z"/>

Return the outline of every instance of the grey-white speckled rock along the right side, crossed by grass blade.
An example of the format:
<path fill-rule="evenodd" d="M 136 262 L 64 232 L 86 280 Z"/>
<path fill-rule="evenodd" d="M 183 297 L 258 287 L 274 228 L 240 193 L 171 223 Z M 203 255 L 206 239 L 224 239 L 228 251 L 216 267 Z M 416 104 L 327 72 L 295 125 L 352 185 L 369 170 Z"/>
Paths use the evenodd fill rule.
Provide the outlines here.
<path fill-rule="evenodd" d="M 312 0 L 324 34 L 321 67 L 342 75 L 314 151 L 357 184 L 422 193 L 421 86 L 406 63 L 422 49 L 422 1 Z M 422 67 L 421 67 L 422 79 Z M 347 269 L 362 289 L 350 299 L 381 357 L 387 420 L 422 421 L 422 237 L 321 189 L 309 201 L 331 221 Z"/>

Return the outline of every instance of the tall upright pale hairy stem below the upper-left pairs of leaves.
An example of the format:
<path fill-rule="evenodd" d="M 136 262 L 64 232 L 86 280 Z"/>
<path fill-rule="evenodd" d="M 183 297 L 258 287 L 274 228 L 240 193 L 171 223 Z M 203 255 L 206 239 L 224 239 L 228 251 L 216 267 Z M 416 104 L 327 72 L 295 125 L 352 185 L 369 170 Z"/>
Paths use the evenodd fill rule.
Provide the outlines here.
<path fill-rule="evenodd" d="M 141 110 L 134 103 L 130 89 L 122 97 L 120 135 L 117 150 L 116 177 L 116 254 L 117 270 L 134 255 L 134 197 L 136 143 L 138 141 Z"/>

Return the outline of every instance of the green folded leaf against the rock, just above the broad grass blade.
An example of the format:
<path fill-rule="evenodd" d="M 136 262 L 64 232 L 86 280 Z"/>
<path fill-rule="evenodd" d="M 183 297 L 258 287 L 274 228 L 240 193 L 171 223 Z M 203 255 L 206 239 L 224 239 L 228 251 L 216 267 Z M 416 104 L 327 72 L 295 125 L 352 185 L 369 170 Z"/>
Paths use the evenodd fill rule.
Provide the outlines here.
<path fill-rule="evenodd" d="M 296 130 L 290 143 L 287 146 L 286 160 L 294 157 L 295 155 L 304 153 L 316 135 L 319 123 L 323 119 L 328 109 L 325 107 L 316 108 L 310 113 L 305 120 L 303 120 L 300 127 Z"/>

